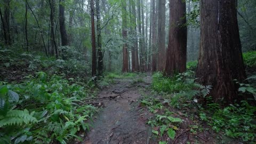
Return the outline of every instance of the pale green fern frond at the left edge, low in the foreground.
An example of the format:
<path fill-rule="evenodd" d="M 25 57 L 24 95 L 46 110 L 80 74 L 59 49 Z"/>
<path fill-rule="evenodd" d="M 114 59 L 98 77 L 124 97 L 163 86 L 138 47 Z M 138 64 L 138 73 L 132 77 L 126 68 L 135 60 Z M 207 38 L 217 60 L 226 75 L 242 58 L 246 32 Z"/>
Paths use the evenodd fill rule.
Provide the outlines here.
<path fill-rule="evenodd" d="M 0 117 L 0 128 L 10 125 L 22 125 L 23 123 L 37 123 L 37 119 L 33 117 L 34 113 L 29 114 L 27 109 L 25 110 L 10 110 L 6 116 Z"/>

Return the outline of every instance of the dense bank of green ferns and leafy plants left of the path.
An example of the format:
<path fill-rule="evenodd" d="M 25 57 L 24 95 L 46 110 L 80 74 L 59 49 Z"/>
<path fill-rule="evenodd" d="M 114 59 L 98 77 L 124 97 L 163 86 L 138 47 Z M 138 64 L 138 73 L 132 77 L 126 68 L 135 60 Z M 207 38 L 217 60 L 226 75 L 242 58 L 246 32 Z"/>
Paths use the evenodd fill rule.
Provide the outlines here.
<path fill-rule="evenodd" d="M 0 143 L 82 140 L 76 134 L 89 130 L 90 125 L 85 121 L 97 112 L 83 99 L 95 87 L 43 71 L 36 77 L 25 78 L 19 84 L 0 86 L 1 101 L 5 101 L 1 103 L 9 102 L 7 108 L 4 105 L 0 108 L 5 112 L 0 116 Z"/>

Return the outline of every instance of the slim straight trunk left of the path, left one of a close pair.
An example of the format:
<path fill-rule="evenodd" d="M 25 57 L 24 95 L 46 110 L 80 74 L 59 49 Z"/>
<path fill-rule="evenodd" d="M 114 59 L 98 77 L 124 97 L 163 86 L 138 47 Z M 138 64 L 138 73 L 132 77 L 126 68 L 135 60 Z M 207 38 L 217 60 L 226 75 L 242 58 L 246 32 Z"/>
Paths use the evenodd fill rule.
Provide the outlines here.
<path fill-rule="evenodd" d="M 92 76 L 96 76 L 96 39 L 95 39 L 95 25 L 94 25 L 94 4 L 91 0 L 91 28 L 92 28 Z"/>

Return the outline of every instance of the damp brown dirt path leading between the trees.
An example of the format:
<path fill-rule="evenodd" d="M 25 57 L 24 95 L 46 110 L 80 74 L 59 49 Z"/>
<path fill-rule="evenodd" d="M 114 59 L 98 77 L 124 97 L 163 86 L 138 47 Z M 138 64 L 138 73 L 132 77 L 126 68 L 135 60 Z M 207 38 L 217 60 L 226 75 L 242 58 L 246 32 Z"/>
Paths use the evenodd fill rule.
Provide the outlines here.
<path fill-rule="evenodd" d="M 98 98 L 118 96 L 111 100 L 95 100 L 103 103 L 104 108 L 91 123 L 92 129 L 82 143 L 149 143 L 151 127 L 146 125 L 149 115 L 141 110 L 139 103 L 140 90 L 150 85 L 151 77 L 143 77 L 143 82 L 137 82 L 137 78 L 116 79 L 116 84 L 99 93 Z"/>

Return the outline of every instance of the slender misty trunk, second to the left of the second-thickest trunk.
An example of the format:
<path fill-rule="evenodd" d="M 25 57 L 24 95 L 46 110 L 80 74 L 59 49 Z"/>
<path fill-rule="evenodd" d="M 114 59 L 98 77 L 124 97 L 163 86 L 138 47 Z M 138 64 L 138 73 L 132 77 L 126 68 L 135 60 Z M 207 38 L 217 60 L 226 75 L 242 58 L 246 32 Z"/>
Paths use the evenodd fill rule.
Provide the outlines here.
<path fill-rule="evenodd" d="M 156 17 L 156 0 L 152 3 L 152 71 L 157 70 L 157 17 Z"/>

